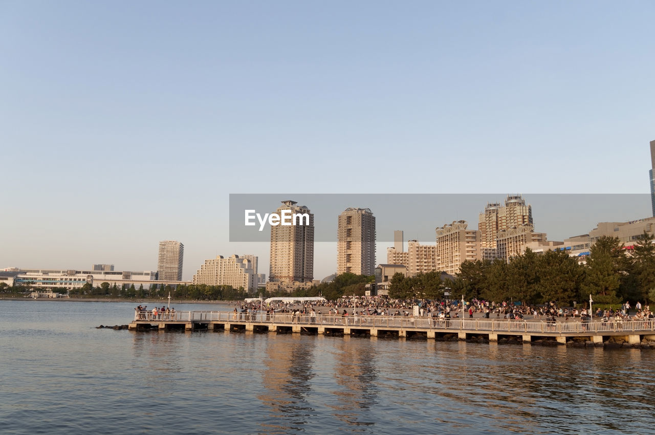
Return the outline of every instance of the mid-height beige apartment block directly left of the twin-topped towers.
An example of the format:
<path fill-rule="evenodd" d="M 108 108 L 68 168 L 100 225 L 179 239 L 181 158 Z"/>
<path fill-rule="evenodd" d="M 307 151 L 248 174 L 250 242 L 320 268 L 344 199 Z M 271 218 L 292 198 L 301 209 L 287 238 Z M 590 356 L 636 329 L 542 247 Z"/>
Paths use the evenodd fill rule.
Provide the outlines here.
<path fill-rule="evenodd" d="M 437 270 L 454 275 L 464 261 L 481 258 L 479 231 L 468 229 L 466 221 L 453 221 L 436 229 Z"/>

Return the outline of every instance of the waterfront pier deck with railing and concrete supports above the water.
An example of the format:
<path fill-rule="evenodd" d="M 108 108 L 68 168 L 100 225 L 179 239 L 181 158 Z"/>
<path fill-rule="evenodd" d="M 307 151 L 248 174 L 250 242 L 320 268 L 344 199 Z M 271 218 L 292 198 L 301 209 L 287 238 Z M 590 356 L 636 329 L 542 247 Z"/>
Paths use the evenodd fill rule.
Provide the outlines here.
<path fill-rule="evenodd" d="M 130 330 L 226 330 L 326 335 L 391 335 L 438 339 L 453 337 L 465 340 L 483 337 L 489 341 L 514 337 L 524 343 L 536 339 L 554 339 L 557 343 L 587 339 L 601 345 L 612 337 L 637 345 L 644 339 L 655 341 L 655 320 L 621 320 L 582 322 L 438 319 L 405 316 L 333 316 L 271 314 L 267 312 L 179 311 L 174 314 L 135 312 Z"/>

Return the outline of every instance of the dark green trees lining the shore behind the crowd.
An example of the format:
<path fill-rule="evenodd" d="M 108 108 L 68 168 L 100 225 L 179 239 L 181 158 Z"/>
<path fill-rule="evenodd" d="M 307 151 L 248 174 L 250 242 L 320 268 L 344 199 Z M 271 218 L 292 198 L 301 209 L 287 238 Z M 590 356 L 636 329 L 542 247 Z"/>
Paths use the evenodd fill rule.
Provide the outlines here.
<path fill-rule="evenodd" d="M 465 261 L 455 276 L 439 272 L 404 276 L 397 273 L 390 280 L 388 296 L 391 299 L 443 300 L 449 293 L 452 298 L 464 297 L 485 301 L 521 301 L 525 305 L 539 305 L 556 301 L 560 306 L 591 299 L 598 307 L 612 307 L 624 301 L 655 302 L 655 244 L 654 236 L 643 233 L 630 249 L 624 248 L 616 237 L 601 236 L 584 261 L 570 257 L 561 250 L 536 254 L 527 249 L 510 261 Z M 248 293 L 232 286 L 189 284 L 157 288 L 128 288 L 84 284 L 67 292 L 69 300 L 94 301 L 162 301 L 185 303 L 242 301 L 246 297 L 307 297 L 322 296 L 336 301 L 344 295 L 363 296 L 373 276 L 344 273 L 331 282 L 309 289 Z M 10 287 L 0 284 L 0 297 L 26 297 L 33 289 L 27 286 Z M 62 289 L 52 289 L 53 291 Z"/>

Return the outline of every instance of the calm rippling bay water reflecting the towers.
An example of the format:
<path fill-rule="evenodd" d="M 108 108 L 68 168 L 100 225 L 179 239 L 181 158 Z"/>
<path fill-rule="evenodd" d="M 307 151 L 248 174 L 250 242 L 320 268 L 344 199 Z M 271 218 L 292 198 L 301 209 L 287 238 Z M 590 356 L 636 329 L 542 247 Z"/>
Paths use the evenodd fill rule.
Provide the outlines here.
<path fill-rule="evenodd" d="M 95 328 L 135 305 L 0 301 L 0 432 L 655 434 L 653 350 Z"/>

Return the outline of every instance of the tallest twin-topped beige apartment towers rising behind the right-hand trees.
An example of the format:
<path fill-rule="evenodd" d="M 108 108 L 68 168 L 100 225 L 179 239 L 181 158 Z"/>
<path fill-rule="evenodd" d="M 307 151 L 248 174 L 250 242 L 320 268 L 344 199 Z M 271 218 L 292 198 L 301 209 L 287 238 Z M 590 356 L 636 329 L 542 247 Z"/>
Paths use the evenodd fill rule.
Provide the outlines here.
<path fill-rule="evenodd" d="M 498 233 L 522 225 L 533 225 L 532 206 L 525 204 L 521 195 L 508 195 L 504 205 L 489 202 L 485 211 L 479 214 L 477 228 L 480 232 L 481 259 L 502 257 L 496 252 Z"/>

